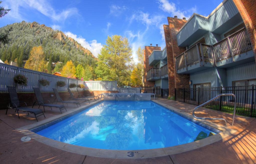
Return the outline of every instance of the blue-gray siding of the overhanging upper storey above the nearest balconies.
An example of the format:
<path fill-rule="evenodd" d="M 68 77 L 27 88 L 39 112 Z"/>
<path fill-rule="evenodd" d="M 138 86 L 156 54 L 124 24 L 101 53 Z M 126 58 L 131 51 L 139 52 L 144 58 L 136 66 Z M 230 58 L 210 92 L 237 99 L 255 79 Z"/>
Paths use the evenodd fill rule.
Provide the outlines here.
<path fill-rule="evenodd" d="M 178 46 L 189 46 L 205 36 L 206 44 L 220 40 L 221 34 L 240 24 L 242 17 L 232 0 L 226 1 L 208 19 L 195 15 L 177 34 Z"/>

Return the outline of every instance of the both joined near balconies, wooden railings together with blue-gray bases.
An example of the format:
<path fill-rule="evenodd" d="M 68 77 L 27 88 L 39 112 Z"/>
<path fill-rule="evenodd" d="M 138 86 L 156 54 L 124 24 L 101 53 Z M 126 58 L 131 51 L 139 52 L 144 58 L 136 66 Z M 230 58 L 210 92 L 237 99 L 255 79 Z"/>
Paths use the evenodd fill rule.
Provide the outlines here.
<path fill-rule="evenodd" d="M 194 73 L 214 66 L 229 68 L 254 61 L 245 28 L 210 46 L 197 43 L 176 57 L 177 73 Z"/>

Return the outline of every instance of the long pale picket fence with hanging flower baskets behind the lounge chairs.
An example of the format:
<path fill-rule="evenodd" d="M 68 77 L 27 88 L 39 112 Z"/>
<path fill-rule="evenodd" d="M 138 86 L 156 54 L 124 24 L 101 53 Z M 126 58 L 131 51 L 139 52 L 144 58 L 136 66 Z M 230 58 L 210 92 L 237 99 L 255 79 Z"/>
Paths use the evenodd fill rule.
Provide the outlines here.
<path fill-rule="evenodd" d="M 33 71 L 25 68 L 11 66 L 8 64 L 0 63 L 0 91 L 8 91 L 7 86 L 15 86 L 14 76 L 17 74 L 23 74 L 27 77 L 27 86 L 16 85 L 17 91 L 20 92 L 31 92 L 33 87 L 39 87 L 41 91 L 49 92 L 52 88 L 57 88 L 58 91 L 67 91 L 69 84 L 75 83 L 84 84 L 86 89 L 93 91 L 116 91 L 116 81 L 81 81 L 78 79 L 70 79 L 61 76 L 56 76 L 48 73 Z M 50 81 L 49 86 L 41 86 L 38 82 L 39 79 L 46 79 Z M 57 81 L 65 81 L 66 85 L 59 87 L 56 85 Z M 71 91 L 75 91 L 75 88 L 70 88 Z"/>

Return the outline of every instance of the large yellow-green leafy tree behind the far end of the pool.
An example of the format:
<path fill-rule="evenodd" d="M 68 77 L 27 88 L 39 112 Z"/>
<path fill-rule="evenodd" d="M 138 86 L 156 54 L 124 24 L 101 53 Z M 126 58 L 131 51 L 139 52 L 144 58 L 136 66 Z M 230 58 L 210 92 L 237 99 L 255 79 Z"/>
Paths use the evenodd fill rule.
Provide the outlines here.
<path fill-rule="evenodd" d="M 118 86 L 130 81 L 133 58 L 132 49 L 126 37 L 108 36 L 98 59 L 95 73 L 102 80 L 116 80 Z"/>

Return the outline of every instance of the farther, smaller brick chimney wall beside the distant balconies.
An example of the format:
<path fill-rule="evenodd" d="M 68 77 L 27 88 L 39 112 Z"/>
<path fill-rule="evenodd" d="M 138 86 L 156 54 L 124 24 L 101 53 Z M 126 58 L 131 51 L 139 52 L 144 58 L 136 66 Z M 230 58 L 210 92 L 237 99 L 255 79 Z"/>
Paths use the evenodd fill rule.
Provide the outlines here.
<path fill-rule="evenodd" d="M 154 86 L 155 81 L 147 81 L 147 71 L 153 66 L 148 64 L 148 56 L 152 53 L 153 50 L 161 50 L 161 47 L 156 46 L 145 46 L 144 50 L 144 86 Z"/>

